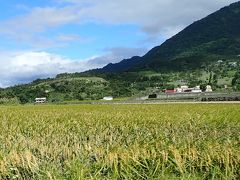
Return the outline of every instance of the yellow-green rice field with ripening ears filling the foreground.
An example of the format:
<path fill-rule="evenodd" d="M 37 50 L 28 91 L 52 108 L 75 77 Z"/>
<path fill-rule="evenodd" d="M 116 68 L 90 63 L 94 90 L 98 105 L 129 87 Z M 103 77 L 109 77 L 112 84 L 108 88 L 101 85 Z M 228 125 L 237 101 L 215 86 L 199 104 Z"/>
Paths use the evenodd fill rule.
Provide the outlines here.
<path fill-rule="evenodd" d="M 1 106 L 0 179 L 240 179 L 240 104 Z"/>

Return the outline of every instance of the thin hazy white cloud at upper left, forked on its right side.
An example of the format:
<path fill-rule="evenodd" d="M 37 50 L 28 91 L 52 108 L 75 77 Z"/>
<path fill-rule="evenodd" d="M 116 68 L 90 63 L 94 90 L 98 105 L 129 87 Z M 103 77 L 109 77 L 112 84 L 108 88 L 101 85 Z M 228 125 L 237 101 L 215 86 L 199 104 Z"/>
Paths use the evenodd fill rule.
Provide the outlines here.
<path fill-rule="evenodd" d="M 78 8 L 74 6 L 62 8 L 36 7 L 28 14 L 0 22 L 0 34 L 18 43 L 29 44 L 34 48 L 46 49 L 59 46 L 59 44 L 62 45 L 61 41 L 66 43 L 66 40 L 68 42 L 79 40 L 79 35 L 70 34 L 49 38 L 41 34 L 59 26 L 76 23 L 78 18 Z M 70 36 L 71 39 L 69 38 Z"/>

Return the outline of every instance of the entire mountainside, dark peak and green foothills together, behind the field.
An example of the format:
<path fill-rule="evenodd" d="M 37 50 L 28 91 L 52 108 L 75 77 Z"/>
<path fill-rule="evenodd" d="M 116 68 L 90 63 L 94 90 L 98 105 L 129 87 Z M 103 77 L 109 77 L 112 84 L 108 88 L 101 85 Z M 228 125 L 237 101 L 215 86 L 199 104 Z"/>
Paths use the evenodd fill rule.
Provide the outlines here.
<path fill-rule="evenodd" d="M 33 102 L 41 96 L 51 102 L 129 97 L 181 85 L 240 90 L 239 30 L 237 2 L 194 22 L 142 57 L 0 89 L 0 104 Z"/>

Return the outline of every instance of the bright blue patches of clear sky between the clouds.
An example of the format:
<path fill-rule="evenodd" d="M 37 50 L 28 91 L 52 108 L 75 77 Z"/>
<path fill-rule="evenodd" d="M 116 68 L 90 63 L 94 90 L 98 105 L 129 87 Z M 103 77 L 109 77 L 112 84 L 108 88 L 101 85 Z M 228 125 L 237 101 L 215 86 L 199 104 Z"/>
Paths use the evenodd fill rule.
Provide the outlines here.
<path fill-rule="evenodd" d="M 44 13 L 44 8 L 56 8 L 56 13 L 58 13 L 58 8 L 61 9 L 73 5 L 75 5 L 75 3 L 72 4 L 68 1 L 57 0 L 3 1 L 1 3 L 2 11 L 0 20 L 6 22 L 14 21 L 19 17 L 26 17 L 34 12 L 36 8 L 42 8 L 42 13 Z M 79 7 L 84 8 L 84 5 Z M 73 10 L 73 13 L 74 12 Z M 27 21 L 27 19 L 25 21 Z M 17 27 L 18 22 L 15 21 L 15 23 Z M 14 33 L 18 35 L 17 30 Z M 20 39 L 16 39 L 12 37 L 12 35 L 6 35 L 6 33 L 0 34 L 0 49 L 24 51 L 31 49 L 34 51 L 46 51 L 72 59 L 87 59 L 92 56 L 103 55 L 106 49 L 112 47 L 146 49 L 147 47 L 152 47 L 152 43 L 143 43 L 147 36 L 140 31 L 139 25 L 134 23 L 109 24 L 97 21 L 92 22 L 91 20 L 82 23 L 79 19 L 79 22 L 78 20 L 75 22 L 69 21 L 69 23 L 56 25 L 47 30 L 34 33 L 33 35 L 35 37 L 31 37 L 32 39 L 21 37 L 19 37 Z M 56 38 L 61 40 L 56 40 Z M 142 55 L 142 53 L 143 52 L 140 52 L 139 55 Z"/>

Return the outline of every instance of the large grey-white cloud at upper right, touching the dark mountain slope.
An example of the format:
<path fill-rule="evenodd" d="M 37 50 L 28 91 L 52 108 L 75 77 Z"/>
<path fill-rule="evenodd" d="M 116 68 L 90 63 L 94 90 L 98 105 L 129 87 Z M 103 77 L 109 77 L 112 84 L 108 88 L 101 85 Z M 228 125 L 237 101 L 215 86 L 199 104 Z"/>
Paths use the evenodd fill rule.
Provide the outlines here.
<path fill-rule="evenodd" d="M 64 0 L 60 0 L 63 2 Z M 165 38 L 193 21 L 237 0 L 65 0 L 88 4 L 81 9 L 82 19 L 109 24 L 136 24 L 150 36 Z M 181 28 L 180 28 L 181 27 Z M 173 31 L 174 29 L 175 31 Z"/>

